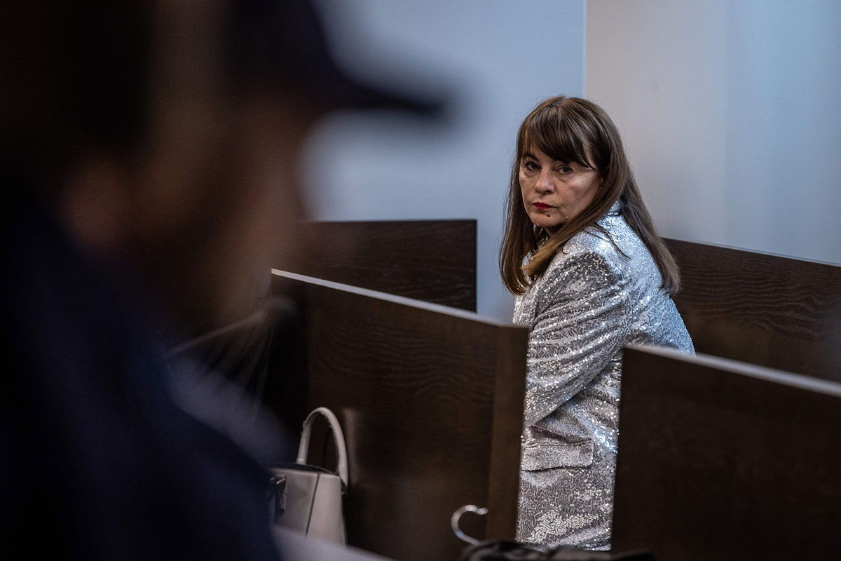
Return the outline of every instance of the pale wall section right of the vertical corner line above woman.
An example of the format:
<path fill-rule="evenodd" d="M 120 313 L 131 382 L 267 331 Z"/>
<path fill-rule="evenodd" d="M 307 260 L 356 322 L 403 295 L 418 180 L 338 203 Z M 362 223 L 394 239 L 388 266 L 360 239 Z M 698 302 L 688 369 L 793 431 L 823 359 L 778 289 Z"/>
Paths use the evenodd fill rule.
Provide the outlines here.
<path fill-rule="evenodd" d="M 585 75 L 665 236 L 841 262 L 841 3 L 589 0 Z"/>

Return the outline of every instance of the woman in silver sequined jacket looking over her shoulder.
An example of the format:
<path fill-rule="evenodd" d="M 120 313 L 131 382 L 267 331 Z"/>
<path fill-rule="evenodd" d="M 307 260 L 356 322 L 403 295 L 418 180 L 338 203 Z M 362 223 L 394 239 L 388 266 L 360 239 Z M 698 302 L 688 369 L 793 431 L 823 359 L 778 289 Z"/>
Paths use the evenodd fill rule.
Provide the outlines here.
<path fill-rule="evenodd" d="M 531 328 L 517 539 L 608 549 L 622 347 L 693 348 L 678 268 L 595 103 L 550 98 L 523 121 L 500 272 Z"/>

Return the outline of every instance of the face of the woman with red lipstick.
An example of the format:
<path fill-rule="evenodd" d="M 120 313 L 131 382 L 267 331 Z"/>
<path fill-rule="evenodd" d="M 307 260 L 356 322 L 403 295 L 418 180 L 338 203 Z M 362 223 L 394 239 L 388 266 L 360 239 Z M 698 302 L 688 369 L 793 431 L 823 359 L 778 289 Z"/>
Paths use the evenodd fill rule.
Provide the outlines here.
<path fill-rule="evenodd" d="M 532 224 L 551 236 L 593 201 L 600 173 L 532 149 L 520 158 L 520 192 Z"/>

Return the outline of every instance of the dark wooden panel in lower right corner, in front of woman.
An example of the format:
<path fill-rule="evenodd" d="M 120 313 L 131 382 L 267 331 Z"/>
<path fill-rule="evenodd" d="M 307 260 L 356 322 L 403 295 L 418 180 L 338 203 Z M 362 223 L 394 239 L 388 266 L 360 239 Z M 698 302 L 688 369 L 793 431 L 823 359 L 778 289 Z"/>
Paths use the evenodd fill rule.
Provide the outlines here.
<path fill-rule="evenodd" d="M 841 384 L 642 348 L 622 370 L 614 548 L 838 558 Z"/>

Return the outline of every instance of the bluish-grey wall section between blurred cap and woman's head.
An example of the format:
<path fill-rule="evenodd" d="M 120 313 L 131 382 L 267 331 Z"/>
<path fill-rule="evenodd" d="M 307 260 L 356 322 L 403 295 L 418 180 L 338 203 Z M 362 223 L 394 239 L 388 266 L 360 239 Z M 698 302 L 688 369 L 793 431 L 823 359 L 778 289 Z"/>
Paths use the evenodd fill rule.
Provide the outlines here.
<path fill-rule="evenodd" d="M 317 220 L 478 220 L 479 313 L 510 320 L 497 272 L 505 191 L 521 120 L 543 98 L 584 91 L 584 0 L 322 3 L 338 52 L 360 74 L 410 74 L 452 92 L 445 123 L 338 114 L 306 166 Z"/>

